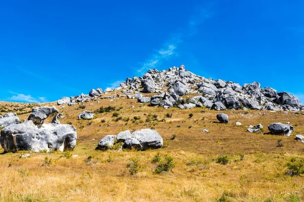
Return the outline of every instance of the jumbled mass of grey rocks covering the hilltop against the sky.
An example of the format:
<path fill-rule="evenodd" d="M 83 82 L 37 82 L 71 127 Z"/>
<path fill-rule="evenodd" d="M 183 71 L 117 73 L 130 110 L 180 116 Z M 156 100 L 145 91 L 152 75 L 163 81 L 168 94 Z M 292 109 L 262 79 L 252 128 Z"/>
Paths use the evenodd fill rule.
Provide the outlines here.
<path fill-rule="evenodd" d="M 104 96 L 111 91 L 123 94 Z M 143 95 L 149 93 L 149 95 L 143 96 L 140 93 Z M 189 94 L 191 94 L 191 97 L 187 96 Z M 271 87 L 261 88 L 258 82 L 245 83 L 241 86 L 231 81 L 205 78 L 185 70 L 183 65 L 179 68 L 169 68 L 167 71 L 149 70 L 143 77 L 127 78 L 116 89 L 107 88 L 102 91 L 97 88 L 96 90 L 92 89 L 89 95 L 82 93 L 75 97 L 62 97 L 58 100 L 58 105 L 68 103 L 71 106 L 74 103 L 89 102 L 97 98 L 118 96 L 137 98 L 140 103 L 149 103 L 150 106 L 164 108 L 191 109 L 206 107 L 218 111 L 251 109 L 298 112 L 304 110 L 299 99 L 285 91 L 277 92 Z"/>

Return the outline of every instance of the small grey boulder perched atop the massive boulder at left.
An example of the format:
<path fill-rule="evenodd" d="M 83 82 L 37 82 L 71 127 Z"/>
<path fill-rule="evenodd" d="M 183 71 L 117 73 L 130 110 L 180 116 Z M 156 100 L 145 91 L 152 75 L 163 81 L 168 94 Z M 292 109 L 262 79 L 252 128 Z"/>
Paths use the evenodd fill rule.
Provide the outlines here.
<path fill-rule="evenodd" d="M 44 123 L 44 121 L 52 114 L 57 114 L 59 111 L 55 107 L 39 107 L 32 109 L 29 115 L 29 121 Z"/>

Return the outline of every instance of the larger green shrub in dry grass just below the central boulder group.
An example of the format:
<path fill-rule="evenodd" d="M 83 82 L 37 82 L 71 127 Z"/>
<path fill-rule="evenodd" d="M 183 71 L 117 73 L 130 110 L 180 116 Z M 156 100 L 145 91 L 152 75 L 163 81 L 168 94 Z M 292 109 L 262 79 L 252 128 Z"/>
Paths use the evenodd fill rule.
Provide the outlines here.
<path fill-rule="evenodd" d="M 151 163 L 156 164 L 153 172 L 161 174 L 171 171 L 175 167 L 175 163 L 173 161 L 173 157 L 158 153 L 151 161 Z"/>

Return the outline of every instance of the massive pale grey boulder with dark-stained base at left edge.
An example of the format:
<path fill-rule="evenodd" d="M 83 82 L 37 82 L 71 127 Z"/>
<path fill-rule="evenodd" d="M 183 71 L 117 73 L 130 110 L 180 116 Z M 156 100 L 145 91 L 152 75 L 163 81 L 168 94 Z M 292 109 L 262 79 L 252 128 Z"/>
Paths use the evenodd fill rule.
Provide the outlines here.
<path fill-rule="evenodd" d="M 76 145 L 76 129 L 71 125 L 42 124 L 32 121 L 13 124 L 1 131 L 0 142 L 7 152 L 19 150 L 43 151 L 73 149 Z"/>

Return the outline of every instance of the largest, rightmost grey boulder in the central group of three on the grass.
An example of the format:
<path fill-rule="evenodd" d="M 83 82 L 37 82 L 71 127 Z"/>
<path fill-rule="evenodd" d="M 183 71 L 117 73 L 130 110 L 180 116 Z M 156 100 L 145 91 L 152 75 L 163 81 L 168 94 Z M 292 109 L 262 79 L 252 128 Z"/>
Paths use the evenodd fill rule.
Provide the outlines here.
<path fill-rule="evenodd" d="M 136 130 L 128 137 L 123 144 L 123 148 L 136 147 L 137 149 L 157 149 L 163 146 L 163 138 L 156 130 L 142 129 Z"/>

